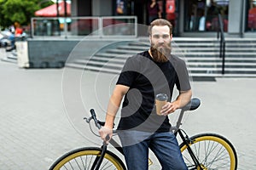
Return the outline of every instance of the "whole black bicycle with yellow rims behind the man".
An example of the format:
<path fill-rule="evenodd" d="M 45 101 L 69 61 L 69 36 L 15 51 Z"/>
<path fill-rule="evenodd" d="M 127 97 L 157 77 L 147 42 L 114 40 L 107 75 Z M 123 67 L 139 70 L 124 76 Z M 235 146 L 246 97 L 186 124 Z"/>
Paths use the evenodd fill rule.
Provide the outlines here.
<path fill-rule="evenodd" d="M 237 156 L 234 146 L 230 141 L 216 133 L 200 133 L 189 137 L 183 129 L 180 128 L 185 111 L 194 111 L 201 105 L 200 99 L 191 99 L 188 105 L 184 106 L 177 118 L 176 126 L 172 131 L 180 136 L 182 143 L 179 144 L 183 154 L 183 159 L 188 169 L 209 170 L 209 169 L 230 169 L 237 168 Z M 96 113 L 90 110 L 91 116 L 85 118 L 85 122 L 95 122 L 97 128 L 104 126 L 104 122 L 97 120 Z M 113 131 L 115 133 L 116 131 Z M 92 132 L 93 133 L 93 132 Z M 121 146 L 112 138 L 109 140 L 116 150 L 123 154 Z M 103 142 L 102 147 L 84 147 L 72 150 L 61 156 L 49 168 L 50 170 L 59 169 L 118 169 L 125 170 L 124 162 L 107 149 L 108 144 Z M 148 164 L 152 164 L 148 158 Z"/>

